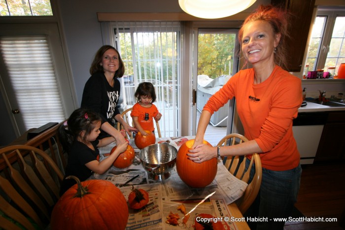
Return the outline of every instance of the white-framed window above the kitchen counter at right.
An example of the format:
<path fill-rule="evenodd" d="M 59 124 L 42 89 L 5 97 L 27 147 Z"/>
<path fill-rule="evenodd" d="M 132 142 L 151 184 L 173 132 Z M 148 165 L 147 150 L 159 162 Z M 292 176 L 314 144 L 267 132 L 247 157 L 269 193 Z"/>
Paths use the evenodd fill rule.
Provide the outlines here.
<path fill-rule="evenodd" d="M 339 9 L 338 9 L 339 10 Z M 345 62 L 345 11 L 319 9 L 311 32 L 306 64 L 327 70 Z"/>

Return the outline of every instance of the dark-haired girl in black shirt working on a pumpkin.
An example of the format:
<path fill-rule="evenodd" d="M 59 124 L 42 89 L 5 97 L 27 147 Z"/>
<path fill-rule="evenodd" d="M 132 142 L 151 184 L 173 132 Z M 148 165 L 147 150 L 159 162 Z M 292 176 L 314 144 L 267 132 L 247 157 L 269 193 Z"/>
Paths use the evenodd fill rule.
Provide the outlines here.
<path fill-rule="evenodd" d="M 69 155 L 60 195 L 75 184 L 74 180 L 67 180 L 67 176 L 76 176 L 80 181 L 85 181 L 93 172 L 103 174 L 117 156 L 127 149 L 127 142 L 120 143 L 114 153 L 101 162 L 97 160 L 100 153 L 98 147 L 106 146 L 115 140 L 113 137 L 97 139 L 101 120 L 101 117 L 91 110 L 77 109 L 69 116 L 67 122 L 59 127 L 58 135 L 63 150 Z"/>

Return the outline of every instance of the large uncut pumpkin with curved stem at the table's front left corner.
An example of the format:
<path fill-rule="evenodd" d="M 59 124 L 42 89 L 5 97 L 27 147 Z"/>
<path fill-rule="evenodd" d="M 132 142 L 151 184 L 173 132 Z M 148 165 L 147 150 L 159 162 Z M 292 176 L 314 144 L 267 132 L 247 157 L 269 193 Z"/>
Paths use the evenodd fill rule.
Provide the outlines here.
<path fill-rule="evenodd" d="M 128 220 L 127 201 L 111 182 L 89 180 L 65 192 L 54 206 L 52 230 L 124 230 Z"/>

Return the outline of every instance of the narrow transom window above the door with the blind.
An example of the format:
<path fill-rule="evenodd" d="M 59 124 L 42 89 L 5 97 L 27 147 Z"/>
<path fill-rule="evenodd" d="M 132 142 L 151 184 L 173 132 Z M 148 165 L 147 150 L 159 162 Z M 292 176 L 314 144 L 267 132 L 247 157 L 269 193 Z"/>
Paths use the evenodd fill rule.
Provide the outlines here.
<path fill-rule="evenodd" d="M 0 0 L 0 16 L 53 15 L 50 0 Z"/>

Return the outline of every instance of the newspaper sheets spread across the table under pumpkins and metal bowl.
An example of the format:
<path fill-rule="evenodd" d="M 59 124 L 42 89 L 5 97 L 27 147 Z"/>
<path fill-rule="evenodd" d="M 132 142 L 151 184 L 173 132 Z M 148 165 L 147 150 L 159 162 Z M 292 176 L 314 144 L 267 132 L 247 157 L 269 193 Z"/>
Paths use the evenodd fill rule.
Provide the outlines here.
<path fill-rule="evenodd" d="M 183 143 L 193 137 L 161 138 L 164 142 L 169 140 L 170 145 L 178 149 Z M 133 140 L 132 140 L 133 142 Z M 131 143 L 130 143 L 131 144 Z M 100 148 L 100 161 L 110 153 L 115 143 L 107 147 Z M 132 165 L 124 169 L 118 169 L 112 166 L 103 175 L 95 174 L 94 179 L 103 179 L 110 181 L 115 186 L 124 184 L 131 178 L 139 175 L 135 180 L 121 187 L 126 200 L 132 191 L 132 186 L 137 189 L 143 189 L 149 193 L 149 203 L 140 210 L 129 209 L 127 230 L 175 230 L 193 229 L 197 214 L 206 213 L 215 218 L 221 218 L 223 225 L 227 229 L 238 230 L 236 224 L 231 222 L 231 213 L 227 208 L 230 204 L 240 198 L 245 191 L 247 184 L 233 176 L 222 164 L 218 163 L 218 170 L 215 179 L 205 188 L 196 189 L 187 186 L 178 176 L 176 167 L 170 172 L 170 177 L 162 181 L 153 181 L 148 177 L 148 173 L 143 169 L 139 158 L 140 150 L 136 149 L 136 156 Z M 207 199 L 205 198 L 207 197 Z M 201 202 L 202 201 L 202 202 Z M 199 204 L 201 202 L 201 204 Z M 189 219 L 183 224 L 184 214 L 181 214 L 178 226 L 172 226 L 166 223 L 170 211 L 178 213 L 177 207 L 183 203 L 189 213 Z M 227 219 L 225 219 L 227 217 Z M 226 221 L 229 220 L 229 221 Z"/>

